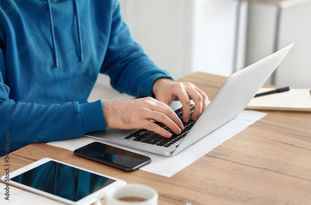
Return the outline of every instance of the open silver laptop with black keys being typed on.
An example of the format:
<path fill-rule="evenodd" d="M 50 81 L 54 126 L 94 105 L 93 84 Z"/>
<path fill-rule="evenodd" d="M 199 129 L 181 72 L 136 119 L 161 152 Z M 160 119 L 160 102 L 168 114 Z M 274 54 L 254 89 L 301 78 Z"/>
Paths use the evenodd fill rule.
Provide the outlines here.
<path fill-rule="evenodd" d="M 190 119 L 188 123 L 183 123 L 185 129 L 179 135 L 159 122 L 155 123 L 171 132 L 172 138 L 165 138 L 145 129 L 107 128 L 85 135 L 157 154 L 167 156 L 177 154 L 240 114 L 293 45 L 294 43 L 232 74 L 201 116 L 196 121 Z M 194 106 L 192 105 L 190 109 L 193 113 Z M 181 107 L 177 107 L 174 111 L 182 120 Z"/>

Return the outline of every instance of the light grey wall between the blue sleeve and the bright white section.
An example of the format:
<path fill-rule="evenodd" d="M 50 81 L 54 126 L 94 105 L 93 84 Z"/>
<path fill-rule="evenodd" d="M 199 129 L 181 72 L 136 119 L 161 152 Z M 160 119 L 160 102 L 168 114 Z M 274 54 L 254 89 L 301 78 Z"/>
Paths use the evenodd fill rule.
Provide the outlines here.
<path fill-rule="evenodd" d="M 190 73 L 193 34 L 193 1 L 125 0 L 121 7 L 123 20 L 134 39 L 157 66 L 174 78 Z M 149 24 L 155 27 L 148 32 Z M 146 37 L 142 36 L 146 32 Z M 143 37 L 143 38 L 142 38 Z M 190 43 L 187 43 L 187 41 Z M 181 48 L 184 44 L 187 48 Z M 178 57 L 174 57 L 178 56 Z M 164 63 L 166 62 L 166 64 Z M 168 65 L 170 64 L 170 65 Z"/>

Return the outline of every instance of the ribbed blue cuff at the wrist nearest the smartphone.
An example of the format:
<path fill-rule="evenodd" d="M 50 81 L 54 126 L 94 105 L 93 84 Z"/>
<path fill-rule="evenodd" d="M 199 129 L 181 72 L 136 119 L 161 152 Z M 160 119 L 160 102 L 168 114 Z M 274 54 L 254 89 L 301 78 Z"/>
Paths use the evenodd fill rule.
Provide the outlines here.
<path fill-rule="evenodd" d="M 79 108 L 84 134 L 107 129 L 101 100 L 79 104 Z"/>

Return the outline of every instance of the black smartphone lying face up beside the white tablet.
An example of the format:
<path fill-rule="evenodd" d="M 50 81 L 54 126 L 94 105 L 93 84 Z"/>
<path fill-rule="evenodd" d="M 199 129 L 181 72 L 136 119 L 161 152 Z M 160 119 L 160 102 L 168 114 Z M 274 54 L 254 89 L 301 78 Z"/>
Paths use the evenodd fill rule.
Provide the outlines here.
<path fill-rule="evenodd" d="M 132 172 L 151 162 L 150 157 L 100 142 L 93 142 L 73 151 L 73 154 L 111 167 Z"/>

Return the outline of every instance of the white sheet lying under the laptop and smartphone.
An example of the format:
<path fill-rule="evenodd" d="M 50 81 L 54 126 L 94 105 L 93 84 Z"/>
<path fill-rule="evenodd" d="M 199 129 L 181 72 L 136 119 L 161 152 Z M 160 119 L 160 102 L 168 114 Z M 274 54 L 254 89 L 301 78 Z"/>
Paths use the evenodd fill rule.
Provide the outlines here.
<path fill-rule="evenodd" d="M 230 120 L 228 123 L 211 132 L 201 140 L 184 149 L 182 152 L 174 156 L 163 156 L 151 152 L 137 150 L 131 147 L 106 142 L 103 140 L 94 139 L 87 136 L 81 136 L 68 140 L 60 140 L 47 143 L 56 147 L 61 147 L 74 151 L 84 145 L 92 142 L 102 142 L 107 145 L 112 145 L 131 152 L 142 154 L 151 158 L 151 163 L 141 167 L 141 170 L 151 172 L 161 176 L 171 177 L 191 163 L 195 162 L 200 157 L 204 156 L 211 150 L 215 149 L 226 140 L 244 130 L 249 125 L 255 123 L 257 120 L 263 118 L 267 113 L 257 112 L 253 110 L 244 110 L 236 118 Z M 202 128 L 204 129 L 204 128 Z M 186 156 L 186 157 L 185 157 Z"/>

